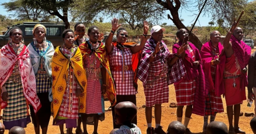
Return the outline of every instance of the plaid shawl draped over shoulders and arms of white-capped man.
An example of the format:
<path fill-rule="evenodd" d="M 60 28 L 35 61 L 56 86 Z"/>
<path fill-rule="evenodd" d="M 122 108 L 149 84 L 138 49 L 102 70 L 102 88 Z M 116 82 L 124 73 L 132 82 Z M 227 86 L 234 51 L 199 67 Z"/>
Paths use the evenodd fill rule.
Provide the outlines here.
<path fill-rule="evenodd" d="M 161 45 L 164 46 L 164 49 L 161 52 L 157 53 L 154 59 L 154 62 L 156 62 L 157 65 L 153 65 L 152 63 L 151 65 L 149 64 L 149 57 L 155 51 L 156 44 L 153 38 L 149 38 L 149 40 L 147 40 L 147 42 L 145 43 L 143 52 L 141 54 L 139 69 L 137 72 L 137 77 L 139 78 L 139 80 L 143 82 L 143 85 L 147 83 L 148 72 L 152 72 L 152 74 L 155 76 L 159 75 L 160 72 L 162 72 L 163 70 L 163 65 L 161 64 L 163 64 L 163 62 L 167 61 L 169 58 L 173 58 L 175 56 L 174 54 L 171 54 L 169 52 L 166 44 L 164 44 L 164 41 L 161 41 Z M 183 65 L 182 60 L 177 60 L 171 68 L 168 68 L 168 85 L 173 84 L 176 81 L 179 81 L 185 74 L 186 69 Z"/>

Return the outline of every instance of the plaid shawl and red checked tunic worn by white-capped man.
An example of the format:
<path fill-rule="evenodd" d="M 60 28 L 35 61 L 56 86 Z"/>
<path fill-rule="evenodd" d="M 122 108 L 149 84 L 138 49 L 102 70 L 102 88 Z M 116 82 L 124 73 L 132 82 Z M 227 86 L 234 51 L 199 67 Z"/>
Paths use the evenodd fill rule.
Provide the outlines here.
<path fill-rule="evenodd" d="M 146 98 L 146 107 L 152 107 L 155 104 L 168 103 L 169 88 L 168 85 L 179 81 L 186 70 L 181 60 L 168 68 L 167 61 L 174 57 L 171 54 L 163 41 L 161 45 L 164 46 L 156 54 L 154 61 L 149 63 L 149 57 L 155 51 L 155 41 L 150 38 L 144 46 L 141 53 L 141 61 L 137 72 L 137 77 L 143 82 L 144 93 Z"/>

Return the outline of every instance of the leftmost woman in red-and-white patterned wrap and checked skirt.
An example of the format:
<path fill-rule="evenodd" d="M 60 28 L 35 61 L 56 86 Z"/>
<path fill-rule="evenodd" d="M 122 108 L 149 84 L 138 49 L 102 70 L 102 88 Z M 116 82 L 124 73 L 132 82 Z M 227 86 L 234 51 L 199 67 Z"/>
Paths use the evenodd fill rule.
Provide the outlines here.
<path fill-rule="evenodd" d="M 29 50 L 22 43 L 19 27 L 10 30 L 9 43 L 1 49 L 0 88 L 3 109 L 3 124 L 6 129 L 14 126 L 26 128 L 30 123 L 29 104 L 34 112 L 41 108 L 37 97 L 36 77 L 29 58 Z"/>

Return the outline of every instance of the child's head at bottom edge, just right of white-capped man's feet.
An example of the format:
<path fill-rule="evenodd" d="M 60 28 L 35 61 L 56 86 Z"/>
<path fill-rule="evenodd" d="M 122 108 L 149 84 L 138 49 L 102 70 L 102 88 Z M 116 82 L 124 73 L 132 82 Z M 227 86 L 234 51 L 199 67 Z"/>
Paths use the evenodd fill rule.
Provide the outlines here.
<path fill-rule="evenodd" d="M 185 126 L 179 121 L 172 121 L 167 129 L 167 134 L 184 134 L 186 131 Z"/>

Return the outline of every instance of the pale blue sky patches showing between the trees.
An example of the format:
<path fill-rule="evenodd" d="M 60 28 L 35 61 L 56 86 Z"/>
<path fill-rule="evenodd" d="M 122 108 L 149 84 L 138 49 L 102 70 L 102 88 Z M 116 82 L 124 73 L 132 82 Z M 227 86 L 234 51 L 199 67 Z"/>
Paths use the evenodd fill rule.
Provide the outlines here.
<path fill-rule="evenodd" d="M 0 3 L 9 2 L 10 0 L 1 0 Z M 251 1 L 251 0 L 250 0 Z M 170 14 L 170 11 L 166 11 L 166 13 Z M 0 14 L 8 16 L 9 13 L 7 13 L 6 9 L 3 8 L 3 6 L 0 5 Z M 198 14 L 198 11 L 186 11 L 182 10 L 182 13 L 180 14 L 180 18 L 184 19 L 183 23 L 185 26 L 191 26 L 192 23 L 194 23 L 196 15 Z M 196 26 L 208 26 L 208 22 L 210 22 L 211 19 L 208 16 L 203 16 L 202 14 L 198 18 L 198 21 L 196 22 Z M 111 22 L 111 18 L 104 19 L 104 22 Z M 170 19 L 167 19 L 167 16 L 163 18 L 160 21 L 160 24 L 167 23 L 167 25 L 174 25 Z"/>

